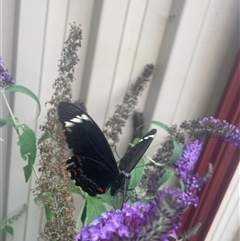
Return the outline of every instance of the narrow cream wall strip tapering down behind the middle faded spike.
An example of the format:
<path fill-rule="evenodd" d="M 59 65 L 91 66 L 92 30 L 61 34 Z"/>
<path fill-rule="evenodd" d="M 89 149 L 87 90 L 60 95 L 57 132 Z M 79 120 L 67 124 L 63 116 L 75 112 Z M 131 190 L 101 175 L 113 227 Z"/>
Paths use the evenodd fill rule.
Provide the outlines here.
<path fill-rule="evenodd" d="M 127 90 L 129 82 L 132 81 L 131 73 L 141 37 L 142 24 L 145 21 L 146 8 L 147 1 L 134 0 L 129 1 L 126 9 L 126 18 L 114 67 L 108 115 L 113 114 L 115 106 L 122 101 L 122 93 Z"/>

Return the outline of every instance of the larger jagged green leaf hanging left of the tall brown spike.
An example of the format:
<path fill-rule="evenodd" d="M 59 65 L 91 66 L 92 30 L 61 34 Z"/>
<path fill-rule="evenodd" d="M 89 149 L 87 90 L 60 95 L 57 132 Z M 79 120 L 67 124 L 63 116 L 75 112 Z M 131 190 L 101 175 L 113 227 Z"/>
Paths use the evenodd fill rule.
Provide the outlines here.
<path fill-rule="evenodd" d="M 20 146 L 20 153 L 23 160 L 34 165 L 36 159 L 36 136 L 31 128 L 21 125 L 22 133 L 18 136 L 17 144 Z"/>

